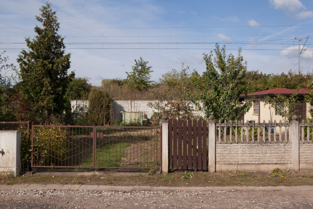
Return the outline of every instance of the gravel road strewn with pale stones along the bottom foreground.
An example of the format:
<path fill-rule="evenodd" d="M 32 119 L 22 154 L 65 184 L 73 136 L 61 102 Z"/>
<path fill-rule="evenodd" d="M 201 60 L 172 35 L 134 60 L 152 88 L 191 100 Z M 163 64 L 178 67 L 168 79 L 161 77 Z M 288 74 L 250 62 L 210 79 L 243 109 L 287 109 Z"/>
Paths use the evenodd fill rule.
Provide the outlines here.
<path fill-rule="evenodd" d="M 1 208 L 313 208 L 313 191 L 12 190 L 0 192 Z"/>

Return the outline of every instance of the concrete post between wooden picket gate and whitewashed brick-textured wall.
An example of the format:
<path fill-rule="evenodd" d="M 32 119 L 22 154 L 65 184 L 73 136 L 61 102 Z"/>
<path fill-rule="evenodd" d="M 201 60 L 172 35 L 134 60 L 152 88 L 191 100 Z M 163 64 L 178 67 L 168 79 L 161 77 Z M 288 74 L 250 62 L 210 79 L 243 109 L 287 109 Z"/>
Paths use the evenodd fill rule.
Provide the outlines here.
<path fill-rule="evenodd" d="M 216 124 L 214 121 L 214 116 L 209 116 L 209 133 L 208 133 L 208 142 L 209 142 L 209 149 L 208 149 L 208 157 L 209 163 L 208 168 L 210 173 L 215 173 L 215 143 L 216 143 Z"/>

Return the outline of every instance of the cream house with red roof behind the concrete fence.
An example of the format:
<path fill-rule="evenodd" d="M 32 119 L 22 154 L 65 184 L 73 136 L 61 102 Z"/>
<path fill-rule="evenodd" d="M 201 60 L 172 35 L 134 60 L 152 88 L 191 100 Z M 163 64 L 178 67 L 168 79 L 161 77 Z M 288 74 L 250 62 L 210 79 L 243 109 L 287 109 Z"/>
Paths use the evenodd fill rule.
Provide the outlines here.
<path fill-rule="evenodd" d="M 266 97 L 275 97 L 276 94 L 291 96 L 293 93 L 295 93 L 295 89 L 275 88 L 249 93 L 247 95 L 240 95 L 240 100 L 243 102 L 247 102 L 247 100 L 253 100 L 252 107 L 241 119 L 243 119 L 244 121 L 260 120 L 260 122 L 263 122 L 263 120 L 265 120 L 266 122 L 274 122 L 274 120 L 276 120 L 277 123 L 282 120 L 282 122 L 284 122 L 282 116 L 275 112 L 275 109 L 273 107 L 270 107 L 269 104 L 266 104 L 264 100 Z M 295 107 L 295 114 L 301 117 L 300 120 L 305 118 L 311 118 L 311 105 L 304 102 L 304 95 L 307 93 L 308 92 L 306 89 L 298 90 L 298 100 L 300 103 Z"/>

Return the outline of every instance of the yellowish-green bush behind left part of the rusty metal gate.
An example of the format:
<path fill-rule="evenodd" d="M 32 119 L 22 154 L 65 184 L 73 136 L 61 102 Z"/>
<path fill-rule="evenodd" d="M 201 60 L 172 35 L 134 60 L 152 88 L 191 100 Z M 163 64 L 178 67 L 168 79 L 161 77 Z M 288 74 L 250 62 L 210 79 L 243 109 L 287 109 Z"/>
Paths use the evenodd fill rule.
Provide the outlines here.
<path fill-rule="evenodd" d="M 54 123 L 50 125 L 61 124 Z M 64 159 L 68 150 L 66 145 L 67 133 L 68 130 L 61 127 L 39 126 L 35 128 L 33 133 L 33 148 L 35 152 L 33 155 L 34 159 L 38 159 L 38 162 L 36 160 L 35 164 L 50 166 L 54 165 L 54 163 L 58 164 L 58 159 Z M 41 152 L 38 154 L 36 150 L 41 150 Z M 53 156 L 52 159 L 51 156 Z"/>

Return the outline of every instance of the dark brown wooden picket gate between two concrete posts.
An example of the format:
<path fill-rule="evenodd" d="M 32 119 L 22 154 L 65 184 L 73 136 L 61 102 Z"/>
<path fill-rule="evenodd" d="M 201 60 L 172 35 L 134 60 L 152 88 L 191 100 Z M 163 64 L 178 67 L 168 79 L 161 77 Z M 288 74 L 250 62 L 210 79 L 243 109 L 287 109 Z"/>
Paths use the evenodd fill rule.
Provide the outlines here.
<path fill-rule="evenodd" d="M 169 169 L 208 170 L 206 120 L 168 120 Z"/>

